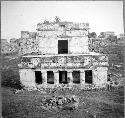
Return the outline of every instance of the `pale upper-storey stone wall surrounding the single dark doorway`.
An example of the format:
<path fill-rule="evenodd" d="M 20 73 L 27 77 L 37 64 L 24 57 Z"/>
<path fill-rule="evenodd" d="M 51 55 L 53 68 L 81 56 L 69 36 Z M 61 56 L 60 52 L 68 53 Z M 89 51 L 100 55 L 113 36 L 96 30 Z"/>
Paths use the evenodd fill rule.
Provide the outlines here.
<path fill-rule="evenodd" d="M 58 54 L 58 40 L 68 40 L 68 53 L 88 52 L 88 25 L 86 24 L 38 24 L 39 51 L 42 54 Z"/>

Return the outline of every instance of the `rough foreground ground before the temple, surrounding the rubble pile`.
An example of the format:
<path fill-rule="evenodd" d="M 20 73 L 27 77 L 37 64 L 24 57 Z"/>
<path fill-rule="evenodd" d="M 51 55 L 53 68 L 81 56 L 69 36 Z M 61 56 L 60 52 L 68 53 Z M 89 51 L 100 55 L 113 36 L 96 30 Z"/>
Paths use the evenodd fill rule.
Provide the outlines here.
<path fill-rule="evenodd" d="M 124 118 L 124 89 L 111 91 L 58 91 L 58 95 L 76 95 L 78 109 L 47 111 L 41 107 L 44 96 L 52 94 L 39 91 L 14 93 L 10 87 L 2 87 L 3 118 Z"/>

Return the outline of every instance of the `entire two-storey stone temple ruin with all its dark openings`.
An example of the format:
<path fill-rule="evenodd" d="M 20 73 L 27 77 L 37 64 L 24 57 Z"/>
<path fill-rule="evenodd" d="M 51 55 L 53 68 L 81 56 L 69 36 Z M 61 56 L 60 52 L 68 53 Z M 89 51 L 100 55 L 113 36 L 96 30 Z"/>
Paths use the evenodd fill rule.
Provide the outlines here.
<path fill-rule="evenodd" d="M 37 32 L 22 31 L 18 64 L 22 85 L 106 86 L 108 58 L 89 52 L 88 30 L 88 23 L 46 21 L 37 24 Z"/>

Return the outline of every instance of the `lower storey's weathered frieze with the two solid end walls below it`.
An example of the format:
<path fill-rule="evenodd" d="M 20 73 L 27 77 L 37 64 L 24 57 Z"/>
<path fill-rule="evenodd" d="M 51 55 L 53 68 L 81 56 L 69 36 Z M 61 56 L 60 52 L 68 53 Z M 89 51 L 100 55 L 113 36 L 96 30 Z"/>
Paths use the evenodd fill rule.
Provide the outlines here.
<path fill-rule="evenodd" d="M 92 70 L 93 84 L 102 86 L 107 82 L 108 58 L 106 55 L 79 55 L 79 56 L 25 56 L 18 64 L 20 79 L 25 86 L 36 86 L 35 71 L 54 71 L 58 69 Z M 85 78 L 83 78 L 85 79 Z"/>

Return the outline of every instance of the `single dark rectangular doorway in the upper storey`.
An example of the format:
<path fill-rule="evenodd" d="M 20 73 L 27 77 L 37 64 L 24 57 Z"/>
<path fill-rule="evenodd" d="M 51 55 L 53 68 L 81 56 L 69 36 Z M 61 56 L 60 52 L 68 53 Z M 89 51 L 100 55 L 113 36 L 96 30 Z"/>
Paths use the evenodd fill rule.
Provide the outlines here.
<path fill-rule="evenodd" d="M 58 40 L 58 54 L 68 54 L 68 40 Z"/>

